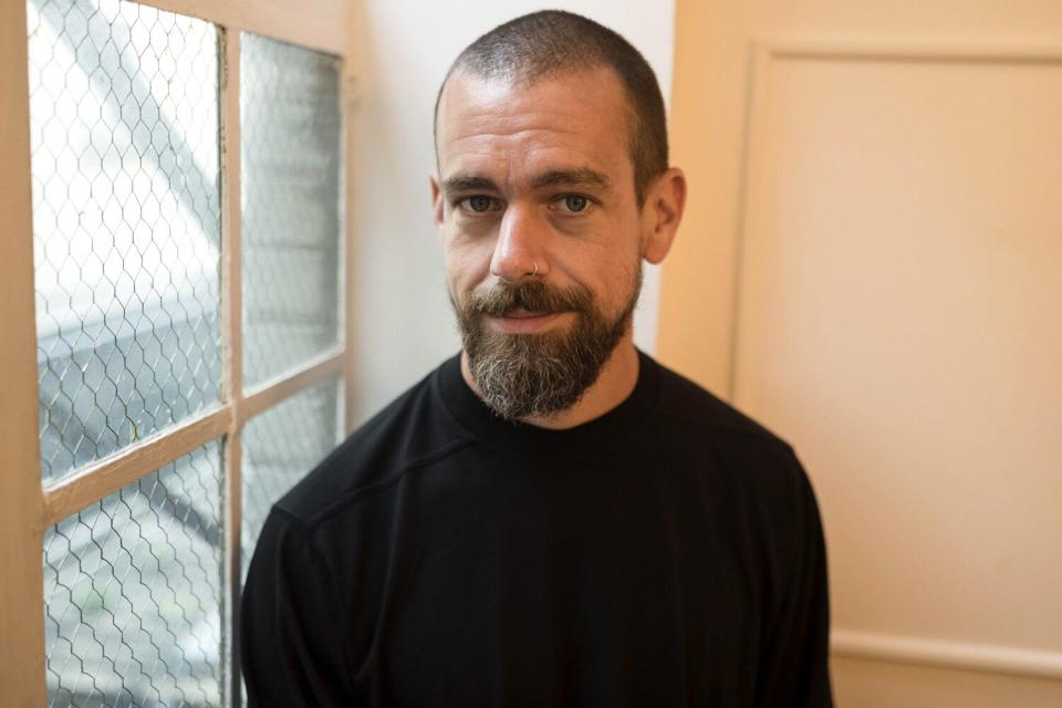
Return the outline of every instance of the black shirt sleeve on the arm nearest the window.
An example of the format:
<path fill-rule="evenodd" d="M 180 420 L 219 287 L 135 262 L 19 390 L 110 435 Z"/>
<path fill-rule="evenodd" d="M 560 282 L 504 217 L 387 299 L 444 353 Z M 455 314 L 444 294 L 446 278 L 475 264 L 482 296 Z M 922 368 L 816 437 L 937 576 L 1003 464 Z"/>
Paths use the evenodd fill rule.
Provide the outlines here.
<path fill-rule="evenodd" d="M 309 531 L 275 508 L 259 537 L 240 603 L 249 708 L 358 706 L 335 584 Z"/>

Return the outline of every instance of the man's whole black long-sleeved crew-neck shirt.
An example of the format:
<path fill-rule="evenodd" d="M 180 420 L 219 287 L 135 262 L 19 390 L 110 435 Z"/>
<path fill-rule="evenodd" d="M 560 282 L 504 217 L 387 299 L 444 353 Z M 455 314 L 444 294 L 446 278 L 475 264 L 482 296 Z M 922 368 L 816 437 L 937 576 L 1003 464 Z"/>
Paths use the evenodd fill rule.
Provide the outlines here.
<path fill-rule="evenodd" d="M 569 430 L 454 357 L 273 508 L 250 706 L 830 706 L 819 512 L 792 449 L 639 353 Z"/>

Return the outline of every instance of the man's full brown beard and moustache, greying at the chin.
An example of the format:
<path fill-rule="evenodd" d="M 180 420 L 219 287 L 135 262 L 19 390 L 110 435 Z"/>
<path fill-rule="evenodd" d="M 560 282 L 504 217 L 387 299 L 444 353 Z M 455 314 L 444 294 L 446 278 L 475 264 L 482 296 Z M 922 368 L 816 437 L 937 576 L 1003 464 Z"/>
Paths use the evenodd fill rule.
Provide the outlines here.
<path fill-rule="evenodd" d="M 642 264 L 623 310 L 604 314 L 583 285 L 554 289 L 540 280 L 499 283 L 455 302 L 461 343 L 483 402 L 499 416 L 518 420 L 549 417 L 579 403 L 631 326 L 642 290 Z M 522 308 L 535 313 L 571 312 L 575 321 L 542 334 L 508 334 L 491 329 L 487 316 Z"/>

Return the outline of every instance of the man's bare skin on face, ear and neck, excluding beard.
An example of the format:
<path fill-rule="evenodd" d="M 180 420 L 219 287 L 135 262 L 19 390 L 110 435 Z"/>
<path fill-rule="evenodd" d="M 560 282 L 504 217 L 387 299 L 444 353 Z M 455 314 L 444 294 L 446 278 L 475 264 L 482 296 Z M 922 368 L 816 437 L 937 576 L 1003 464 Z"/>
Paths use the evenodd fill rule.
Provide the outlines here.
<path fill-rule="evenodd" d="M 435 222 L 450 296 L 504 280 L 580 284 L 616 316 L 636 287 L 639 259 L 659 263 L 681 221 L 686 180 L 669 168 L 639 209 L 627 149 L 631 113 L 607 67 L 566 72 L 531 85 L 455 72 L 439 103 L 438 165 L 430 177 Z M 518 333 L 572 326 L 571 313 L 517 312 L 489 326 Z M 461 369 L 475 381 L 462 355 Z M 631 329 L 597 381 L 572 407 L 525 423 L 570 428 L 620 405 L 634 391 L 638 360 Z"/>

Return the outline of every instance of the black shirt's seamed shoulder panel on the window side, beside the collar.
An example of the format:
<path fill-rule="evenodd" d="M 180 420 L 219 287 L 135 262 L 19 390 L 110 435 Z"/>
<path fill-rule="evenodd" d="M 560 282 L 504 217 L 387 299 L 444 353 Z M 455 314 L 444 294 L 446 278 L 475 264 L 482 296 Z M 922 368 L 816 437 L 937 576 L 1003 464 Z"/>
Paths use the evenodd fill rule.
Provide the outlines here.
<path fill-rule="evenodd" d="M 467 446 L 467 435 L 439 405 L 436 372 L 350 435 L 277 503 L 308 529 Z"/>

